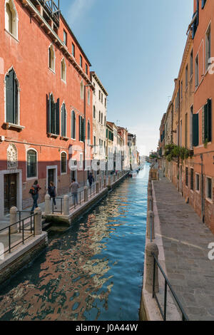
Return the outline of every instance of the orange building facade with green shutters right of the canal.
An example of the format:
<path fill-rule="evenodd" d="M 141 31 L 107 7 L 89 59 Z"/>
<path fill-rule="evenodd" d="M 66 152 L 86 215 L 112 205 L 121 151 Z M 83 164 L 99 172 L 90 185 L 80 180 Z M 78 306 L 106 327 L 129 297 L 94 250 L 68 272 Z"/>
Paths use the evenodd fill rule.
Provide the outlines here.
<path fill-rule="evenodd" d="M 165 129 L 171 143 L 190 150 L 190 157 L 167 162 L 166 175 L 214 232 L 214 1 L 194 0 L 193 5 L 170 102 L 173 122 L 168 114 L 165 118 L 165 125 L 172 124 Z"/>

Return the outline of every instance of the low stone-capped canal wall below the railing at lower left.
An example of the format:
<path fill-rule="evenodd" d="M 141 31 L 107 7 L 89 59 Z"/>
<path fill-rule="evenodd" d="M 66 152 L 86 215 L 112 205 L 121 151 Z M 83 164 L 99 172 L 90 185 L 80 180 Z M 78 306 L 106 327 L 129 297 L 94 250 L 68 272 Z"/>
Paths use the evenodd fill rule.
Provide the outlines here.
<path fill-rule="evenodd" d="M 41 235 L 30 239 L 25 244 L 17 247 L 14 252 L 6 255 L 0 261 L 0 285 L 11 279 L 17 272 L 30 264 L 48 246 L 48 234 L 42 232 Z"/>

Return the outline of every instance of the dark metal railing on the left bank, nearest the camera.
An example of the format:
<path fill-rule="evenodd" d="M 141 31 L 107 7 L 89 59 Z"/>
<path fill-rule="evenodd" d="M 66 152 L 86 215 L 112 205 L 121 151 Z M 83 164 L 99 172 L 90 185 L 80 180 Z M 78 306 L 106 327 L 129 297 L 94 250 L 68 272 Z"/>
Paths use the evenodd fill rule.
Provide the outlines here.
<path fill-rule="evenodd" d="M 19 217 L 21 217 L 22 212 L 29 213 L 28 211 L 21 211 L 19 212 Z M 17 247 L 19 244 L 24 244 L 24 242 L 30 237 L 35 237 L 35 216 L 36 215 L 37 214 L 31 214 L 28 217 L 24 217 L 21 220 L 13 223 L 12 225 L 9 225 L 8 227 L 5 227 L 0 230 L 0 240 L 1 240 L 1 233 L 8 232 L 8 247 L 4 248 L 4 252 L 0 254 L 0 257 L 3 254 L 6 254 L 8 252 L 9 254 L 11 254 L 11 251 L 15 247 Z M 18 241 L 16 240 L 12 242 L 12 236 L 14 235 L 14 232 L 12 232 L 12 229 L 11 229 L 12 227 L 17 227 L 16 239 L 17 237 L 20 237 Z M 25 234 L 25 232 L 27 232 L 27 234 Z"/>

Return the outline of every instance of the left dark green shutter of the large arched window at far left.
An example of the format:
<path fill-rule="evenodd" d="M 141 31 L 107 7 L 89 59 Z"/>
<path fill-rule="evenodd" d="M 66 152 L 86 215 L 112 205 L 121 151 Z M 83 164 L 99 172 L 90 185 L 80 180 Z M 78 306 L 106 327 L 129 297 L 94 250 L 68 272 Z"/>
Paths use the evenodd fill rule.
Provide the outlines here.
<path fill-rule="evenodd" d="M 6 122 L 14 123 L 14 71 L 6 76 Z"/>

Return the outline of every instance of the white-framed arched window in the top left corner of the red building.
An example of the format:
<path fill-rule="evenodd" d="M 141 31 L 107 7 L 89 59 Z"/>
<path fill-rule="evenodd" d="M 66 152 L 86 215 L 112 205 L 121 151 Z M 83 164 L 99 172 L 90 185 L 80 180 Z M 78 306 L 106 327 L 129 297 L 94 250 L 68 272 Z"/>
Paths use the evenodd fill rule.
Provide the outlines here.
<path fill-rule="evenodd" d="M 5 29 L 14 37 L 18 38 L 18 14 L 14 0 L 6 0 L 5 2 Z"/>

